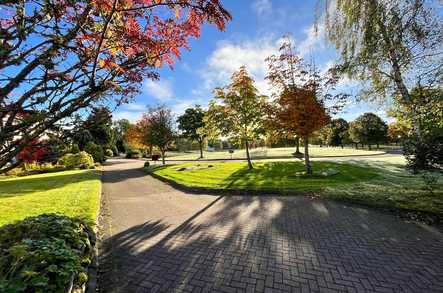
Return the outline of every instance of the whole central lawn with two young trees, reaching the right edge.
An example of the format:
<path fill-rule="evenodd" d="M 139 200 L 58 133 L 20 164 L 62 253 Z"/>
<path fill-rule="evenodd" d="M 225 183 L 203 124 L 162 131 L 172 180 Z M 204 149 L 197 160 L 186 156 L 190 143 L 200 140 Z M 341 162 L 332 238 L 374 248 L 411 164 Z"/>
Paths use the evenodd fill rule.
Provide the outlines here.
<path fill-rule="evenodd" d="M 256 162 L 254 166 L 249 171 L 243 162 L 185 163 L 151 171 L 190 187 L 313 191 L 327 198 L 443 214 L 443 176 L 437 177 L 430 193 L 419 175 L 410 174 L 396 162 L 313 162 L 314 170 L 339 171 L 329 176 L 301 174 L 302 162 Z"/>

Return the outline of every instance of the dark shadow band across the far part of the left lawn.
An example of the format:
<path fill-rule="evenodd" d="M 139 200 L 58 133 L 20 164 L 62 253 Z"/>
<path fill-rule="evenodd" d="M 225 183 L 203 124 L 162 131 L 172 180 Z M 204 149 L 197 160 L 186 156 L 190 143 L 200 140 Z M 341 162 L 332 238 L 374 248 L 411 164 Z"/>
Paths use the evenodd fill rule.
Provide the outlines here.
<path fill-rule="evenodd" d="M 69 184 L 93 181 L 99 178 L 99 171 L 97 170 L 85 170 L 74 174 L 66 172 L 69 171 L 0 180 L 0 198 L 62 188 Z M 95 173 L 95 176 L 91 173 Z"/>

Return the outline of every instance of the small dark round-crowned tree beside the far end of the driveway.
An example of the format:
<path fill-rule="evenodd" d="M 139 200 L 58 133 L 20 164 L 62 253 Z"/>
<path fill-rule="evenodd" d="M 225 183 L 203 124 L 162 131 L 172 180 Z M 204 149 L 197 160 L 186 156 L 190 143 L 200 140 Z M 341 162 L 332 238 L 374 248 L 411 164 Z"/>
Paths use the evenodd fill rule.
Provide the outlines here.
<path fill-rule="evenodd" d="M 174 141 L 174 116 L 170 109 L 165 106 L 150 108 L 143 116 L 145 120 L 145 142 L 147 145 L 158 147 L 162 154 L 162 162 L 165 164 L 165 152 Z"/>

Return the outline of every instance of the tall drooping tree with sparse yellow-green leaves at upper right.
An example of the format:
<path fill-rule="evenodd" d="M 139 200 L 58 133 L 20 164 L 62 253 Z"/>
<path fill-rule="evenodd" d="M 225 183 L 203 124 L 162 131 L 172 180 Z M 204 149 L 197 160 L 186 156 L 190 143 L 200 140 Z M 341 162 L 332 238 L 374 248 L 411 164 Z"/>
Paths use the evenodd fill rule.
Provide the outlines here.
<path fill-rule="evenodd" d="M 326 31 L 341 53 L 341 72 L 367 81 L 369 97 L 398 95 L 415 103 L 414 87 L 433 87 L 443 76 L 443 22 L 438 1 L 323 1 Z M 417 113 L 414 132 L 421 139 Z"/>

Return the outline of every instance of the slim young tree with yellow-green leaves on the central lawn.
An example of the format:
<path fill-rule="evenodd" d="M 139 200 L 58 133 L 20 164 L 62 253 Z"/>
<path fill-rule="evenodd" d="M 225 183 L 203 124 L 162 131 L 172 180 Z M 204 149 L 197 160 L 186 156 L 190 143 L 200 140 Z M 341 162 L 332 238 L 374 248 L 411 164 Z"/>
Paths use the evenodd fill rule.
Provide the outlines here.
<path fill-rule="evenodd" d="M 246 149 L 248 168 L 253 169 L 249 143 L 263 133 L 267 114 L 267 98 L 258 94 L 254 79 L 242 66 L 225 88 L 215 89 L 215 99 L 209 103 L 205 123 L 222 135 L 240 139 Z M 217 104 L 219 103 L 219 104 Z"/>

